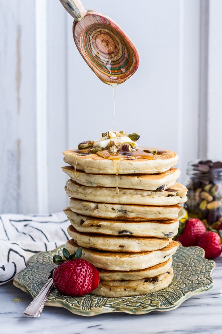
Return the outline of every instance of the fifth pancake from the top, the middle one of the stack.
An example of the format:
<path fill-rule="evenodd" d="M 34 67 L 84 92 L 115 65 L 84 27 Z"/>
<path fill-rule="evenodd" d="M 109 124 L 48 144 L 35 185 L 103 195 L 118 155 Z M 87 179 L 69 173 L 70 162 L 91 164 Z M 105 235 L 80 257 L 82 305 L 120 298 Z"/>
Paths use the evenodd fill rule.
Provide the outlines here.
<path fill-rule="evenodd" d="M 88 217 L 73 212 L 70 208 L 64 210 L 71 224 L 79 232 L 101 233 L 110 235 L 134 235 L 156 238 L 174 237 L 178 232 L 179 221 L 150 220 L 150 221 L 121 221 Z"/>

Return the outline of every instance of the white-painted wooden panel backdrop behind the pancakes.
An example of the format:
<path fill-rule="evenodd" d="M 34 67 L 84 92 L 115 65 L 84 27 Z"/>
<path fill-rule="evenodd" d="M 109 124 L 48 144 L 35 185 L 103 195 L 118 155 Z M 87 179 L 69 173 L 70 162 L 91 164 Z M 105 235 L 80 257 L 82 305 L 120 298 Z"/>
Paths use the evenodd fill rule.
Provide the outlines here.
<path fill-rule="evenodd" d="M 222 1 L 85 0 L 138 49 L 136 73 L 117 87 L 116 130 L 187 162 L 222 160 Z M 59 0 L 0 0 L 0 213 L 68 205 L 62 151 L 111 128 L 112 89 L 79 54 Z"/>

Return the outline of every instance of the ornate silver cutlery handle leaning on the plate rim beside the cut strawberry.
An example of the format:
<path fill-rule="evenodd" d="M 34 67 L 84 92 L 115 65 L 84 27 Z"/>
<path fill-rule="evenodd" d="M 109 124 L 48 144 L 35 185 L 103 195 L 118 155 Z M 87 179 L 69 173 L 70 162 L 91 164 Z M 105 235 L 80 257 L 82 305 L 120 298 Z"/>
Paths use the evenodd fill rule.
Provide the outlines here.
<path fill-rule="evenodd" d="M 40 316 L 52 287 L 53 279 L 51 278 L 23 312 L 27 317 L 37 318 Z"/>

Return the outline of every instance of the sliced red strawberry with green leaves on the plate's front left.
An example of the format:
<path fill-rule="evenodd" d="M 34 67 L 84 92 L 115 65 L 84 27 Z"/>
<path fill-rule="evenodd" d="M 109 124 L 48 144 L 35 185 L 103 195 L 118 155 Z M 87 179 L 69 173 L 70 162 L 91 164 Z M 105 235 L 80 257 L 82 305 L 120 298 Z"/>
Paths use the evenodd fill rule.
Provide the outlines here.
<path fill-rule="evenodd" d="M 67 296 L 83 296 L 95 290 L 100 282 L 98 270 L 92 263 L 80 259 L 82 248 L 78 248 L 70 255 L 63 248 L 64 260 L 60 255 L 53 257 L 53 262 L 58 267 L 51 271 L 55 287 Z"/>

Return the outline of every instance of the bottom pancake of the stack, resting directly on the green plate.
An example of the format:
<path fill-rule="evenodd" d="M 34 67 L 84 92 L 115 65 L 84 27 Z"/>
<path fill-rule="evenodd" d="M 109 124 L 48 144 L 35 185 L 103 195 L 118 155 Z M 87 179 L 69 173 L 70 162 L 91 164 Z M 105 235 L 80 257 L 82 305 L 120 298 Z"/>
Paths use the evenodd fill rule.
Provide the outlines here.
<path fill-rule="evenodd" d="M 164 274 L 140 280 L 100 281 L 99 286 L 91 294 L 105 297 L 140 296 L 165 289 L 172 280 L 173 269 L 171 267 Z"/>

